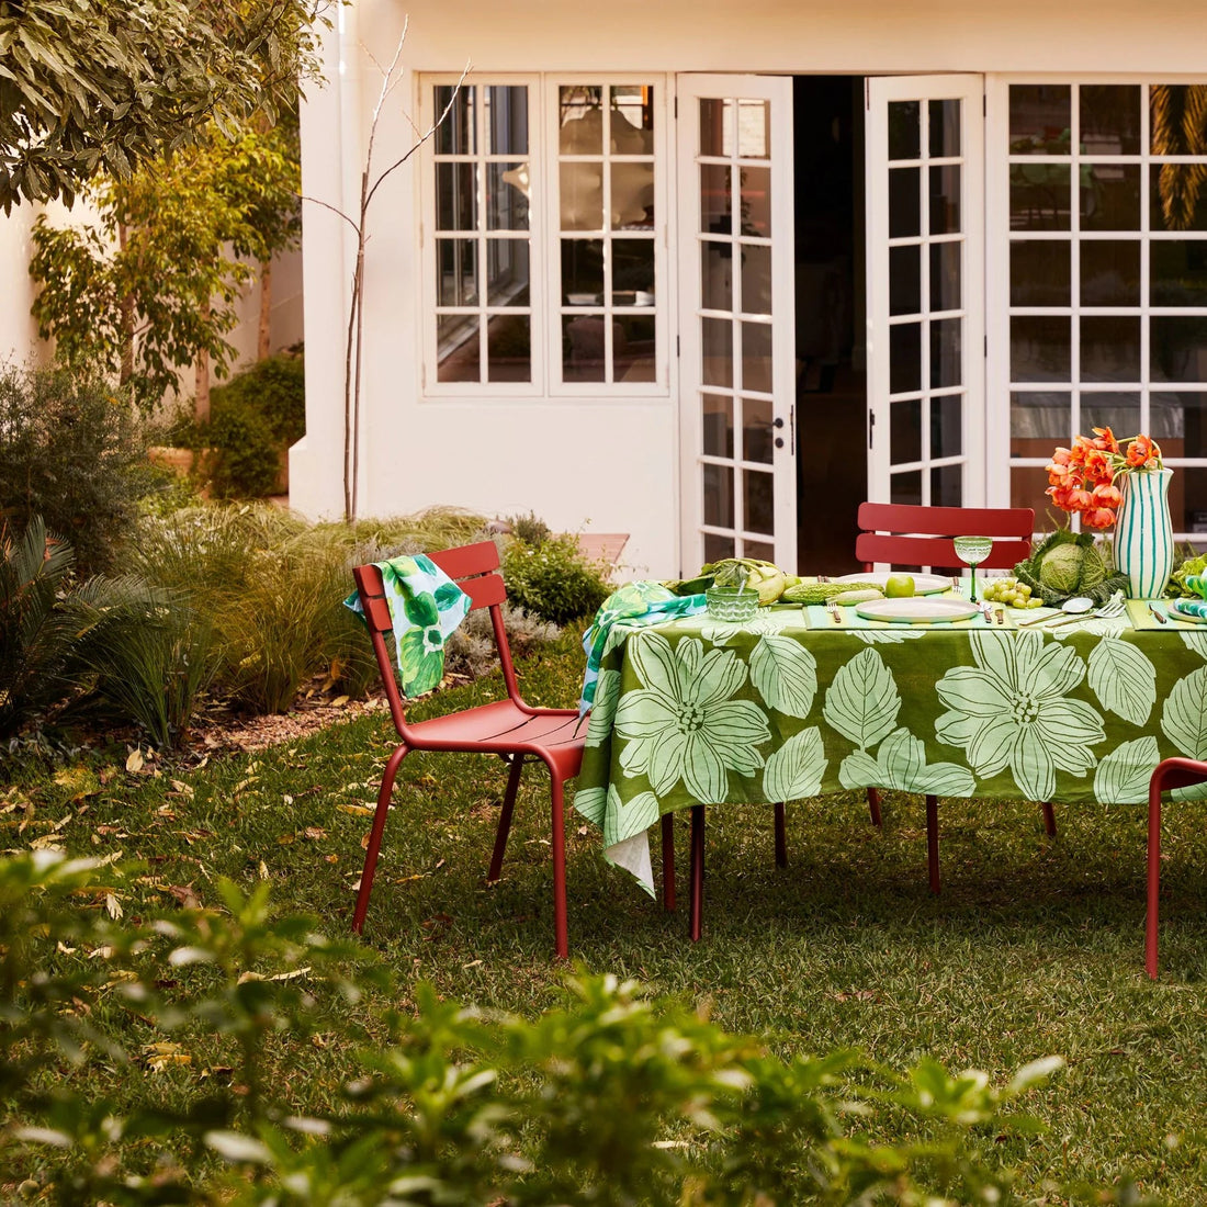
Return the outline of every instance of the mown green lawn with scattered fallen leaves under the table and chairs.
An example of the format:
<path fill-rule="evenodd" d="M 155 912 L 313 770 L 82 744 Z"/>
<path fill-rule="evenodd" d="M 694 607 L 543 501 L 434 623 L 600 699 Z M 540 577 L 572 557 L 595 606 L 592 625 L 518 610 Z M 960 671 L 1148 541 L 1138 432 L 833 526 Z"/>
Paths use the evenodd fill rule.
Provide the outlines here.
<path fill-rule="evenodd" d="M 566 705 L 581 669 L 568 631 L 520 667 L 521 684 L 532 702 Z M 480 681 L 415 713 L 497 689 Z M 124 748 L 113 750 L 91 760 L 97 781 L 24 777 L 0 822 L 10 849 L 56 827 L 72 855 L 145 861 L 147 875 L 122 902 L 128 917 L 170 908 L 174 887 L 191 885 L 212 904 L 218 875 L 246 885 L 267 877 L 280 909 L 313 912 L 338 933 L 351 917 L 367 810 L 392 747 L 380 715 L 188 771 L 132 775 Z M 547 783 L 529 772 L 503 879 L 488 886 L 503 783 L 502 764 L 479 758 L 403 763 L 363 941 L 404 986 L 424 978 L 460 1001 L 535 1014 L 560 1001 L 565 973 L 552 958 Z M 1066 1068 L 1027 1102 L 1048 1131 L 1001 1142 L 1022 1171 L 1020 1189 L 1060 1202 L 1042 1197 L 1045 1180 L 1130 1173 L 1166 1202 L 1207 1202 L 1207 805 L 1167 810 L 1155 984 L 1143 972 L 1143 815 L 1057 805 L 1060 835 L 1049 839 L 1038 805 L 944 800 L 943 892 L 932 897 L 921 798 L 888 795 L 882 833 L 862 793 L 791 804 L 787 869 L 774 865 L 770 807 L 713 807 L 698 945 L 687 937 L 686 892 L 680 911 L 666 914 L 604 863 L 597 835 L 575 818 L 571 952 L 587 969 L 640 978 L 730 1030 L 766 1036 L 783 1055 L 853 1045 L 894 1067 L 931 1055 L 997 1079 L 1063 1056 Z M 686 890 L 686 817 L 677 834 Z M 387 1004 L 410 1003 L 366 1001 L 371 1037 Z M 165 1100 L 221 1062 L 216 1037 L 196 1044 L 192 1069 L 158 1078 Z M 343 1055 L 338 1043 L 282 1045 L 272 1054 L 278 1084 L 299 1110 L 330 1100 Z M 105 1066 L 71 1075 L 113 1094 L 129 1077 Z"/>

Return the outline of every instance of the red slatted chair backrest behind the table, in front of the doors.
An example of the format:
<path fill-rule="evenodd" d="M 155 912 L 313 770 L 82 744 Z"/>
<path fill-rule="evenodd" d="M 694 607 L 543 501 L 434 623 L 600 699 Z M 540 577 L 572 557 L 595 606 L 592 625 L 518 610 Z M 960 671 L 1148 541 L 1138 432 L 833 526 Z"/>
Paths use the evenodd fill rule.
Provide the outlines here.
<path fill-rule="evenodd" d="M 861 503 L 855 555 L 865 566 L 887 561 L 898 566 L 961 570 L 951 544 L 955 536 L 992 536 L 986 570 L 1013 570 L 1031 556 L 1036 513 L 1031 507 L 916 507 L 906 503 Z"/>

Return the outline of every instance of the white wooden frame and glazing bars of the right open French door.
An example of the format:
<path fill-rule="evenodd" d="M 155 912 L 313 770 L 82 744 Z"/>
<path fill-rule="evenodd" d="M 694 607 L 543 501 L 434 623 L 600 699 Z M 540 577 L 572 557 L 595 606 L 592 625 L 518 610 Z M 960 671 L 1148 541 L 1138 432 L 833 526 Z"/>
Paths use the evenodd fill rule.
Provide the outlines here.
<path fill-rule="evenodd" d="M 985 505 L 985 142 L 984 142 L 985 78 L 981 75 L 881 76 L 867 80 L 867 209 L 868 209 L 868 497 L 891 502 L 892 468 L 905 467 L 921 477 L 921 502 L 929 503 L 929 470 L 938 465 L 962 466 L 963 506 Z M 940 156 L 934 167 L 958 163 L 960 192 L 960 255 L 961 296 L 956 310 L 943 311 L 945 317 L 958 320 L 961 331 L 962 431 L 960 454 L 932 457 L 929 447 L 929 415 L 932 400 L 943 396 L 937 391 L 931 373 L 931 239 L 928 215 L 928 180 L 932 170 L 931 147 L 927 140 L 928 101 L 956 100 L 962 103 L 958 156 Z M 917 167 L 920 188 L 921 229 L 916 237 L 891 237 L 888 218 L 888 106 L 894 101 L 920 103 L 921 145 L 916 159 L 893 161 L 904 167 Z M 922 431 L 916 461 L 892 461 L 890 418 L 890 332 L 894 326 L 890 315 L 890 249 L 920 245 L 920 313 L 909 321 L 920 320 L 921 380 L 920 389 L 902 391 L 908 406 L 919 401 Z M 950 391 L 949 391 L 949 395 Z M 1005 445 L 1003 445 L 1005 448 Z"/>

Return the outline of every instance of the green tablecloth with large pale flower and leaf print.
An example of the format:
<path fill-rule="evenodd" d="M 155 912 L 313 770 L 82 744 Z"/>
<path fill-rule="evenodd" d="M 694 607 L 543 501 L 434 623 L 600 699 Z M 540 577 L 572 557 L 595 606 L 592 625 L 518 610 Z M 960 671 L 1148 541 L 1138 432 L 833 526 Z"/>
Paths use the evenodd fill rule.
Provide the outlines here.
<path fill-rule="evenodd" d="M 865 787 L 1137 804 L 1171 754 L 1207 759 L 1207 625 L 828 631 L 799 610 L 701 614 L 613 630 L 575 807 L 652 892 L 634 849 L 687 805 Z"/>

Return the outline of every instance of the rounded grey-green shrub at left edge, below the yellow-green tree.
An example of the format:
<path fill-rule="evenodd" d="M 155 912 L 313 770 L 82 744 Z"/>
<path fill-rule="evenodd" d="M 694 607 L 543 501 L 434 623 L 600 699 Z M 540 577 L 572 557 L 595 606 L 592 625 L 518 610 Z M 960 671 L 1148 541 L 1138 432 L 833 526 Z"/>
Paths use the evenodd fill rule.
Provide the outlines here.
<path fill-rule="evenodd" d="M 0 368 L 0 514 L 41 515 L 82 573 L 112 568 L 153 486 L 141 430 L 101 381 Z"/>

